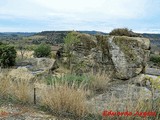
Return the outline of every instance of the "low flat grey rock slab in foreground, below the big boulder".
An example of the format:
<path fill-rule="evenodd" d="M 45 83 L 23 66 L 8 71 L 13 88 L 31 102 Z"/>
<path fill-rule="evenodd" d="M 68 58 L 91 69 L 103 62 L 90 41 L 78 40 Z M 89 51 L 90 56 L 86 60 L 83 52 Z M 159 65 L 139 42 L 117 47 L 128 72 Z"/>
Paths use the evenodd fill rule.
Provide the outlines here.
<path fill-rule="evenodd" d="M 102 113 L 103 110 L 111 107 L 113 111 L 125 111 L 128 105 L 134 108 L 140 101 L 148 101 L 151 98 L 151 91 L 146 87 L 119 82 L 108 87 L 105 93 L 93 97 L 88 101 L 88 105 L 91 106 L 91 111 L 95 113 Z"/>

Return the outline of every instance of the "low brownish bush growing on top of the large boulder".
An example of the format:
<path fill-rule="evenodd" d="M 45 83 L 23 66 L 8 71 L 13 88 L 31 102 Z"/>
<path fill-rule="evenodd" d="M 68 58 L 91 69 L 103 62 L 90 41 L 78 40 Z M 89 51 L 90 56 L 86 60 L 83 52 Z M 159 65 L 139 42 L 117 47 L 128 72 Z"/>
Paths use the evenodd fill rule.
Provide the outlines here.
<path fill-rule="evenodd" d="M 128 37 L 141 37 L 140 34 L 134 33 L 132 30 L 129 30 L 128 28 L 117 28 L 112 30 L 109 35 L 115 35 L 115 36 L 128 36 Z"/>

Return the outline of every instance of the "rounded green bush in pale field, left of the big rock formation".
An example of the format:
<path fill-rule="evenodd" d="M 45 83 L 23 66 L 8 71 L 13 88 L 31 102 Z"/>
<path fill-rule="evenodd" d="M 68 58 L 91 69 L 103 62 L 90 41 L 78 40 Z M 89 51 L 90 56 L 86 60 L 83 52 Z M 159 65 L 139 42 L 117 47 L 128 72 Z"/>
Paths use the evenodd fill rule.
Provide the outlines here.
<path fill-rule="evenodd" d="M 35 50 L 34 50 L 34 56 L 35 57 L 49 57 L 51 54 L 51 47 L 47 44 L 40 44 Z"/>

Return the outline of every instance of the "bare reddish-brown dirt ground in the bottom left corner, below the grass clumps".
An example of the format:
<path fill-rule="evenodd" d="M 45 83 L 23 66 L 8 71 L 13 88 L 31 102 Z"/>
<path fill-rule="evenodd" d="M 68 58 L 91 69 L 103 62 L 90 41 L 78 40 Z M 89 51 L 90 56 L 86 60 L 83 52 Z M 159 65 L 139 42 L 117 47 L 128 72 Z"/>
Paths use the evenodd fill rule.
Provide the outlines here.
<path fill-rule="evenodd" d="M 57 118 L 32 106 L 7 104 L 0 106 L 0 120 L 69 120 Z"/>

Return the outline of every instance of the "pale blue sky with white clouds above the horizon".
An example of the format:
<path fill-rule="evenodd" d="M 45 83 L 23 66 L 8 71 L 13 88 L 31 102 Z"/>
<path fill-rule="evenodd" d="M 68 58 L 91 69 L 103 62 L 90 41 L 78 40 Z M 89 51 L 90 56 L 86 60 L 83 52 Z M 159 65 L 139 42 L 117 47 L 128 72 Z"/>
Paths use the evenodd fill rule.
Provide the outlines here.
<path fill-rule="evenodd" d="M 0 32 L 121 27 L 160 33 L 160 0 L 0 0 Z"/>

